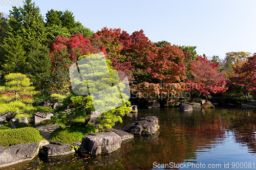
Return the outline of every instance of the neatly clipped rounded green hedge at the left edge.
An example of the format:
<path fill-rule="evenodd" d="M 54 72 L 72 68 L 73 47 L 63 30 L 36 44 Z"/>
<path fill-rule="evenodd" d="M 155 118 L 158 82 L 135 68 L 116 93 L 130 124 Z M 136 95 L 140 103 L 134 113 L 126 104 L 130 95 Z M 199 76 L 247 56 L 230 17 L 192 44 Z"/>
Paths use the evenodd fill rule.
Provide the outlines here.
<path fill-rule="evenodd" d="M 0 144 L 4 147 L 15 144 L 40 142 L 44 138 L 37 129 L 31 127 L 0 130 L 0 136 Z"/>

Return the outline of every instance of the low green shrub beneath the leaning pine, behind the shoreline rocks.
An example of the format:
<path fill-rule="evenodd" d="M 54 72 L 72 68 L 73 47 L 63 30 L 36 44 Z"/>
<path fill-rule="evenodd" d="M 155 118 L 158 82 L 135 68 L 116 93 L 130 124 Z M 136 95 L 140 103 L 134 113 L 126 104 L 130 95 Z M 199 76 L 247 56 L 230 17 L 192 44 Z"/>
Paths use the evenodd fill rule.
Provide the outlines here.
<path fill-rule="evenodd" d="M 58 128 L 51 133 L 50 141 L 70 144 L 75 141 L 82 141 L 82 138 L 90 133 L 97 133 L 97 130 L 94 126 L 89 124 L 86 127 Z"/>

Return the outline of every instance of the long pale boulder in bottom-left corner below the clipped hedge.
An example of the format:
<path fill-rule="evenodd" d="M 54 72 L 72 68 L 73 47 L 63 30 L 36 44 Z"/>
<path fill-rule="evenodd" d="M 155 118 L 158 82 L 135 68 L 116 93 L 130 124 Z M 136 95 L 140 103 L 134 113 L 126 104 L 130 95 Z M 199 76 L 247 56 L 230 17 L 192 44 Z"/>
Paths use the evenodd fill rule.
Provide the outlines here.
<path fill-rule="evenodd" d="M 0 167 L 32 160 L 37 156 L 39 143 L 17 144 L 0 151 Z"/>

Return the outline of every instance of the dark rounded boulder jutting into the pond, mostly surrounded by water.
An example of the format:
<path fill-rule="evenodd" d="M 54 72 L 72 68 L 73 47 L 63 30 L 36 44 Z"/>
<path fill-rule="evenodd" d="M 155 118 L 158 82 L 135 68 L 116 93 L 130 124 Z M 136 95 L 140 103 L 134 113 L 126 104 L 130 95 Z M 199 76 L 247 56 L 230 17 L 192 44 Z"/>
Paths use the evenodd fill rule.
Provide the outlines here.
<path fill-rule="evenodd" d="M 132 134 L 151 135 L 158 130 L 158 118 L 156 116 L 141 117 L 134 123 L 127 125 L 120 130 Z"/>

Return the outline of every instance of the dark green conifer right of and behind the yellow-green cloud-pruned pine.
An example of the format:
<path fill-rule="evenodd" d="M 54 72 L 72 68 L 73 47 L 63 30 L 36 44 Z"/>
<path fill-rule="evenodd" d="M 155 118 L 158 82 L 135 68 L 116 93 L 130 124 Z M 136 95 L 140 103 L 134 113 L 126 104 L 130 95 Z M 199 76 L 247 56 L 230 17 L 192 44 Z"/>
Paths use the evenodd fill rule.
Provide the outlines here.
<path fill-rule="evenodd" d="M 31 42 L 28 55 L 28 75 L 33 85 L 42 88 L 49 82 L 52 66 L 49 48 L 35 41 Z"/>

